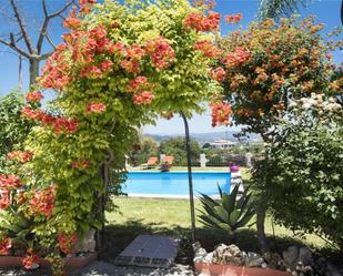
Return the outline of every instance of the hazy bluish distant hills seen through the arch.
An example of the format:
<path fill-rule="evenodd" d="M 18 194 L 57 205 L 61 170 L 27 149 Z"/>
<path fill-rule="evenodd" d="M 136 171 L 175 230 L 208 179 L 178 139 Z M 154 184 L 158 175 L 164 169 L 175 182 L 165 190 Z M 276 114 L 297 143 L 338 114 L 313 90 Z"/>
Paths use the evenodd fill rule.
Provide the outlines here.
<path fill-rule="evenodd" d="M 238 142 L 238 139 L 234 136 L 239 132 L 228 131 L 228 132 L 212 132 L 212 133 L 191 133 L 191 139 L 195 140 L 196 142 L 203 144 L 208 142 L 213 142 L 216 140 L 229 140 L 232 142 Z M 152 137 L 157 142 L 161 142 L 163 140 L 168 140 L 171 137 L 184 137 L 184 134 L 150 134 L 144 133 L 144 136 Z M 261 142 L 261 137 L 258 134 L 249 134 L 246 140 L 248 142 Z"/>

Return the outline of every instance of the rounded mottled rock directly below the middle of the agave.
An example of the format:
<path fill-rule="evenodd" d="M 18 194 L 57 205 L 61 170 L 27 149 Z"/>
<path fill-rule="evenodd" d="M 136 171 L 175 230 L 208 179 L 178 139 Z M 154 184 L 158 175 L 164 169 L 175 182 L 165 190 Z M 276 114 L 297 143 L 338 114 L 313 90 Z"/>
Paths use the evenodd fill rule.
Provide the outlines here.
<path fill-rule="evenodd" d="M 235 265 L 241 266 L 244 264 L 243 254 L 236 245 L 219 245 L 214 252 L 212 262 L 220 265 Z"/>

